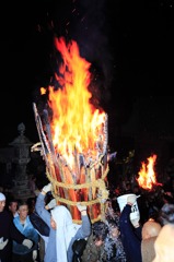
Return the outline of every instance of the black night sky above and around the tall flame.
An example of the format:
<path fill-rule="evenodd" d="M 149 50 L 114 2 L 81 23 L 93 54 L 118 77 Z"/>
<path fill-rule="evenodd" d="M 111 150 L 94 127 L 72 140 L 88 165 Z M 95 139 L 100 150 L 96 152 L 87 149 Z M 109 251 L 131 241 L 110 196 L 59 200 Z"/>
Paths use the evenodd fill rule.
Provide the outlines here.
<path fill-rule="evenodd" d="M 21 122 L 26 126 L 25 135 L 37 142 L 33 102 L 39 100 L 40 86 L 54 83 L 58 61 L 55 36 L 77 40 L 81 56 L 92 63 L 111 133 L 117 126 L 128 124 L 137 99 L 143 103 L 144 119 L 150 116 L 151 129 L 171 132 L 172 127 L 173 132 L 173 4 L 172 0 L 4 2 L 0 19 L 0 146 L 18 136 Z"/>

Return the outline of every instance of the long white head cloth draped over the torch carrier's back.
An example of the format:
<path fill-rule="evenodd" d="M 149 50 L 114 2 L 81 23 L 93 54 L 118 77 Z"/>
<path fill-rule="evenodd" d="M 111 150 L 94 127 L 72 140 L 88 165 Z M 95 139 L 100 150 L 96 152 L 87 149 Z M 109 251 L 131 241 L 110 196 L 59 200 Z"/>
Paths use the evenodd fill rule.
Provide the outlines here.
<path fill-rule="evenodd" d="M 51 215 L 56 222 L 56 250 L 57 262 L 68 262 L 67 251 L 72 237 L 77 234 L 77 230 L 81 225 L 77 225 L 72 222 L 72 216 L 69 210 L 63 205 L 57 205 L 51 210 Z"/>

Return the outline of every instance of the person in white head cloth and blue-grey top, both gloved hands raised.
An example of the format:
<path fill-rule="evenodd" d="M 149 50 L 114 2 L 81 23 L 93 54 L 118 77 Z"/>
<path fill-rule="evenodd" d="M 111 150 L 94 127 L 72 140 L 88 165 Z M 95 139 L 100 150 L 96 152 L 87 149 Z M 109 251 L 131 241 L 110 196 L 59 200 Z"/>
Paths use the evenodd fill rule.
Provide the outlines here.
<path fill-rule="evenodd" d="M 50 212 L 45 209 L 45 196 L 49 191 L 51 191 L 51 183 L 43 188 L 35 205 L 37 214 L 50 227 L 44 261 L 71 262 L 74 240 L 86 238 L 91 234 L 91 222 L 86 213 L 86 206 L 77 205 L 81 212 L 82 225 L 73 224 L 71 214 L 66 206 L 57 205 Z"/>

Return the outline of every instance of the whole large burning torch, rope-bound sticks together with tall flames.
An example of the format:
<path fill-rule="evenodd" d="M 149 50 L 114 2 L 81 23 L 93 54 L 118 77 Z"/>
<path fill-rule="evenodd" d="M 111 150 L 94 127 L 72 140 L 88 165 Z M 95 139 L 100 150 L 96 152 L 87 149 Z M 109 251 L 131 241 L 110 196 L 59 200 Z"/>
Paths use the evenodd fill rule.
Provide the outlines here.
<path fill-rule="evenodd" d="M 92 222 L 103 216 L 108 196 L 105 188 L 107 164 L 107 115 L 90 103 L 92 94 L 90 63 L 80 57 L 76 41 L 66 45 L 56 39 L 63 63 L 56 79 L 61 85 L 49 86 L 48 106 L 43 119 L 34 104 L 35 121 L 46 162 L 47 176 L 58 203 L 66 204 L 79 223 L 77 202 L 89 206 Z M 42 87 L 42 94 L 46 90 Z"/>

